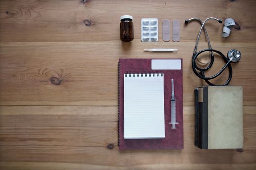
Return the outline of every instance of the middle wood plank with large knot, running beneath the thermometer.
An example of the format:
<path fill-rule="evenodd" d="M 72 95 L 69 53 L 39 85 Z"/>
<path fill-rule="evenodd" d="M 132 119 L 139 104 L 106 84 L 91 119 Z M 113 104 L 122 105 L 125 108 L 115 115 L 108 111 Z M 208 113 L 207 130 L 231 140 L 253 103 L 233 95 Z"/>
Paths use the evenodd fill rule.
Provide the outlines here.
<path fill-rule="evenodd" d="M 107 42 L 0 43 L 0 105 L 117 106 L 117 63 L 119 58 L 183 58 L 184 105 L 194 105 L 194 88 L 206 85 L 191 68 L 194 43 L 147 44 Z M 242 53 L 233 63 L 230 85 L 242 85 L 244 105 L 256 105 L 255 43 L 212 43 L 224 54 L 232 48 Z M 115 47 L 115 48 L 114 48 Z M 147 53 L 146 48 L 178 48 L 177 53 Z M 205 43 L 200 48 L 206 48 Z M 216 57 L 210 73 L 224 66 Z M 140 71 L 140 70 L 138 70 Z M 51 78 L 62 80 L 60 85 Z M 223 83 L 227 77 L 214 80 Z"/>

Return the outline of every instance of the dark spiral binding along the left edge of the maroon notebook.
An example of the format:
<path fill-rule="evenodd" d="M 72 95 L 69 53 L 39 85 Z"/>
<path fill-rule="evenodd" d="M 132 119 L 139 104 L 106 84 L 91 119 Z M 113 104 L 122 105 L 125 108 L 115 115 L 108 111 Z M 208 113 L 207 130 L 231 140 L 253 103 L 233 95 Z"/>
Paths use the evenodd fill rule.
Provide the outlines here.
<path fill-rule="evenodd" d="M 120 114 L 121 114 L 121 63 L 118 63 L 118 146 L 120 146 Z"/>

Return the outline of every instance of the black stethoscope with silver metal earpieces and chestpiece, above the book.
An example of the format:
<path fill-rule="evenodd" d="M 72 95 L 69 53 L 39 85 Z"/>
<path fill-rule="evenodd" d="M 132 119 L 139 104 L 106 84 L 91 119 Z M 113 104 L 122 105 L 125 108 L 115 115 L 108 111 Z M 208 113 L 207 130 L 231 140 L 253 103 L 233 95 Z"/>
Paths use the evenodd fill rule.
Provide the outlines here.
<path fill-rule="evenodd" d="M 231 78 L 232 78 L 232 67 L 231 67 L 231 62 L 238 62 L 241 58 L 241 52 L 238 51 L 238 50 L 235 50 L 235 49 L 232 49 L 230 51 L 228 51 L 227 53 L 227 57 L 222 54 L 222 52 L 220 51 L 217 51 L 217 50 L 214 50 L 212 49 L 211 47 L 211 43 L 210 43 L 210 39 L 209 39 L 209 36 L 208 36 L 208 33 L 206 31 L 206 28 L 205 28 L 205 22 L 207 20 L 210 20 L 210 19 L 214 19 L 214 20 L 217 20 L 219 23 L 222 23 L 222 20 L 221 19 L 217 19 L 217 18 L 214 18 L 214 17 L 209 17 L 207 19 L 205 19 L 204 22 L 202 22 L 200 19 L 198 18 L 191 18 L 191 19 L 188 19 L 188 20 L 185 20 L 185 24 L 189 23 L 190 21 L 193 21 L 193 20 L 197 20 L 198 22 L 201 23 L 201 28 L 200 28 L 200 31 L 197 35 L 197 39 L 196 39 L 196 45 L 195 45 L 195 48 L 194 48 L 194 52 L 193 52 L 193 55 L 192 55 L 192 68 L 193 68 L 193 71 L 194 73 L 197 75 L 197 77 L 205 80 L 206 83 L 208 83 L 209 85 L 215 85 L 213 83 L 211 83 L 209 80 L 211 79 L 214 79 L 216 77 L 218 77 L 219 75 L 222 74 L 222 72 L 228 67 L 228 70 L 229 70 L 229 76 L 228 76 L 228 79 L 227 81 L 222 84 L 222 85 L 227 85 Z M 205 32 L 205 35 L 206 35 L 206 38 L 207 38 L 207 43 L 208 43 L 208 49 L 204 49 L 204 50 L 201 50 L 199 52 L 197 52 L 197 46 L 198 46 L 198 41 L 199 41 L 199 38 L 200 38 L 200 34 L 202 32 L 202 29 L 204 29 L 204 32 Z M 204 64 L 202 63 L 197 57 L 203 53 L 203 52 L 206 52 L 206 51 L 210 51 L 210 57 L 209 57 L 209 60 L 206 62 L 206 63 L 209 63 L 208 66 L 206 66 L 205 68 L 199 68 L 196 64 L 196 60 L 201 63 L 201 64 Z M 220 56 L 222 56 L 222 58 L 224 59 L 224 61 L 226 62 L 225 66 L 215 75 L 213 76 L 210 76 L 210 77 L 205 77 L 205 71 L 210 69 L 213 62 L 214 62 L 214 55 L 213 55 L 213 52 L 216 52 L 217 54 L 219 54 Z M 199 72 L 198 72 L 199 71 Z"/>

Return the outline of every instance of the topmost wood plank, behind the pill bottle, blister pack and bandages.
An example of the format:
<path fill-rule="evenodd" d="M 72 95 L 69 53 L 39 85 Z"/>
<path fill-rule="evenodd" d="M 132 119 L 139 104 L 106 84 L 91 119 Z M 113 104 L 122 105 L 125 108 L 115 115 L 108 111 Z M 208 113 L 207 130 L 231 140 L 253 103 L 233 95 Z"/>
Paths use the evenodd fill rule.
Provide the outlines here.
<path fill-rule="evenodd" d="M 159 18 L 159 39 L 162 20 L 179 19 L 181 42 L 194 42 L 200 28 L 197 22 L 186 26 L 185 19 L 231 17 L 239 23 L 240 30 L 232 30 L 232 36 L 226 39 L 221 37 L 221 24 L 206 24 L 212 42 L 256 42 L 254 0 L 1 0 L 0 42 L 119 40 L 119 17 L 123 14 L 133 16 L 137 40 L 143 17 Z M 85 19 L 92 25 L 86 26 Z"/>

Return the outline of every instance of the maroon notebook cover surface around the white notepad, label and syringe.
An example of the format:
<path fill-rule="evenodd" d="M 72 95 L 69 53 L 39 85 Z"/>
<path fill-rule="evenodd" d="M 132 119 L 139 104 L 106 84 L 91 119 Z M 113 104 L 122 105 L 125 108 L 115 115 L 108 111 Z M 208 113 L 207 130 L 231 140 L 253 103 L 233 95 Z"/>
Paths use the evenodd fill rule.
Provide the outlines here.
<path fill-rule="evenodd" d="M 183 87 L 181 70 L 152 70 L 152 59 L 119 59 L 119 115 L 118 115 L 118 145 L 124 149 L 183 149 Z M 182 66 L 182 59 L 181 66 Z M 125 73 L 163 73 L 164 74 L 164 104 L 165 104 L 165 138 L 163 139 L 124 139 L 124 74 Z M 171 79 L 174 79 L 176 98 L 176 129 L 171 129 Z M 142 120 L 143 121 L 143 120 Z"/>

